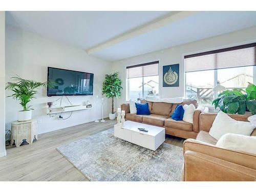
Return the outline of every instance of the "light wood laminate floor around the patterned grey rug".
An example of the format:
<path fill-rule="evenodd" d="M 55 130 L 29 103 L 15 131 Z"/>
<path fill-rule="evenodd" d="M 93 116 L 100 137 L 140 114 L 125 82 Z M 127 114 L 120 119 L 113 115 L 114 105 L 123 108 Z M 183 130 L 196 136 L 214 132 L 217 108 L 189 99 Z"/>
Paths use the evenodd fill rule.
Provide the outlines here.
<path fill-rule="evenodd" d="M 108 119 L 84 123 L 40 134 L 32 145 L 7 147 L 7 156 L 0 158 L 0 181 L 89 181 L 56 147 L 108 130 L 115 123 Z M 166 143 L 182 147 L 183 141 L 166 135 Z"/>

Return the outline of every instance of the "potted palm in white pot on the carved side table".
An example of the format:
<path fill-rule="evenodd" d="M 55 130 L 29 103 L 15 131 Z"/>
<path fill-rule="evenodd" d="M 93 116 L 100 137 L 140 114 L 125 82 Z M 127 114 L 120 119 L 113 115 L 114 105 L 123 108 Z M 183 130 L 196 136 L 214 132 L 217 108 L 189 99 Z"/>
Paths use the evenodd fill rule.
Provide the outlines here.
<path fill-rule="evenodd" d="M 11 77 L 14 82 L 8 82 L 6 90 L 11 90 L 14 93 L 7 97 L 13 97 L 15 100 L 20 101 L 23 110 L 18 112 L 18 121 L 27 121 L 32 117 L 31 105 L 28 103 L 35 98 L 37 93 L 36 89 L 39 87 L 47 88 L 48 82 L 36 82 L 33 80 L 23 79 L 19 76 Z"/>

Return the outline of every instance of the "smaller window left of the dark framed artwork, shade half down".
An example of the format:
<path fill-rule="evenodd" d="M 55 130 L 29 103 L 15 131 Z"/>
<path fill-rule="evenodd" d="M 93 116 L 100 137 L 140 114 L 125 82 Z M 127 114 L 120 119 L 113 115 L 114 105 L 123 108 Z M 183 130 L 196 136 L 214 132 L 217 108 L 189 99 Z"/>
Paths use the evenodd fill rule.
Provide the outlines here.
<path fill-rule="evenodd" d="M 127 100 L 159 96 L 159 61 L 126 67 Z"/>

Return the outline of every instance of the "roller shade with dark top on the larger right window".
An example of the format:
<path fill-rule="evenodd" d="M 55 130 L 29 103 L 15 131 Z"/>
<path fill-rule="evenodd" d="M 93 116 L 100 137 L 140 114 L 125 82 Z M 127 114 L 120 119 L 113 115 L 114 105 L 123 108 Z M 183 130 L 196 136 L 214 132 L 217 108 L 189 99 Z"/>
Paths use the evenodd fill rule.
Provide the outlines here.
<path fill-rule="evenodd" d="M 256 65 L 256 43 L 185 56 L 185 72 Z"/>

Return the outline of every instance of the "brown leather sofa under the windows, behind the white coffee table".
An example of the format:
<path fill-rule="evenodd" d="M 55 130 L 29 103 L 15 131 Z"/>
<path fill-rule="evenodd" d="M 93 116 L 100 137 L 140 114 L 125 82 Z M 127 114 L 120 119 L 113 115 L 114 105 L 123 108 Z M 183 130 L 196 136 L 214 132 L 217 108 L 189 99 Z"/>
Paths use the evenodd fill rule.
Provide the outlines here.
<path fill-rule="evenodd" d="M 164 103 L 164 102 L 150 102 L 144 99 L 140 100 L 141 103 L 148 103 L 151 115 L 136 115 L 130 113 L 129 103 L 123 103 L 121 109 L 125 111 L 125 119 L 141 122 L 145 124 L 152 124 L 156 126 L 162 126 L 165 128 L 165 133 L 168 135 L 174 135 L 182 138 L 196 138 L 199 132 L 199 119 L 202 110 L 197 109 L 194 112 L 194 122 L 189 123 L 185 121 L 176 121 L 170 118 L 173 114 L 177 104 Z M 184 99 L 182 105 L 184 104 L 194 104 L 197 108 L 196 100 Z"/>

